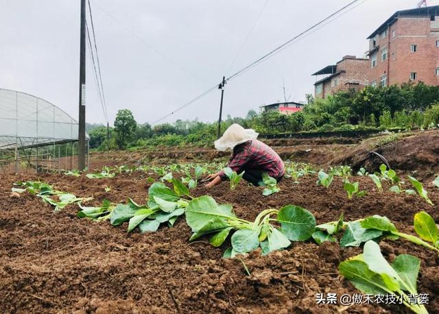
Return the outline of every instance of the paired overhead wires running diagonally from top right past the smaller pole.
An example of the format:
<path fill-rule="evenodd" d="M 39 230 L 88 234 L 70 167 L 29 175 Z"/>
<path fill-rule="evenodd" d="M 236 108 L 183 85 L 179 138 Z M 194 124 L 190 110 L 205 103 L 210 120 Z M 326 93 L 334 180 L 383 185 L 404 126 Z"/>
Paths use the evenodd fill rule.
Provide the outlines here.
<path fill-rule="evenodd" d="M 333 14 L 327 16 L 326 18 L 322 19 L 321 21 L 319 21 L 318 23 L 312 25 L 311 27 L 305 29 L 305 31 L 301 32 L 300 34 L 298 34 L 297 36 L 294 36 L 293 38 L 287 40 L 287 42 L 283 43 L 282 45 L 276 47 L 275 49 L 273 49 L 272 51 L 265 53 L 265 55 L 263 55 L 261 58 L 258 58 L 257 60 L 255 60 L 254 62 L 248 64 L 246 67 L 240 69 L 239 71 L 233 73 L 233 75 L 230 75 L 228 78 L 226 78 L 226 82 L 228 82 L 229 80 L 233 80 L 235 77 L 238 77 L 239 75 L 243 74 L 244 72 L 252 69 L 253 67 L 255 67 L 257 64 L 263 62 L 264 60 L 267 60 L 268 58 L 270 58 L 271 56 L 274 56 L 276 53 L 283 51 L 283 49 L 286 49 L 287 47 L 289 47 L 290 45 L 292 45 L 295 41 L 298 41 L 299 38 L 304 37 L 305 38 L 305 34 L 311 32 L 310 34 L 312 34 L 313 32 L 316 32 L 316 30 L 320 29 L 320 26 L 324 26 L 327 25 L 328 23 L 331 23 L 332 21 L 335 21 L 335 19 L 332 19 L 333 17 L 337 16 L 337 18 L 339 18 L 340 16 L 344 15 L 344 14 L 340 14 L 342 13 L 344 10 L 353 7 L 353 5 L 355 3 L 358 3 L 360 0 L 353 0 L 350 3 L 348 3 L 347 5 L 344 5 L 344 7 L 342 7 L 341 9 L 337 10 L 336 12 L 334 12 Z M 362 0 L 361 3 L 359 3 L 359 5 L 361 5 L 362 3 L 366 2 L 367 0 Z M 350 8 L 349 11 L 357 8 L 359 5 Z M 347 12 L 346 12 L 347 13 Z M 339 15 L 340 14 L 340 15 Z M 336 19 L 337 19 L 336 18 Z M 331 20 L 332 19 L 332 20 Z M 307 35 L 308 36 L 308 35 Z M 193 102 L 197 101 L 198 99 L 204 97 L 204 95 L 209 94 L 212 90 L 216 89 L 217 86 L 221 86 L 222 83 L 219 83 L 215 86 L 213 86 L 212 88 L 210 88 L 209 90 L 206 90 L 204 93 L 198 95 L 197 97 L 195 97 L 194 99 L 192 99 L 191 101 L 187 102 L 186 104 L 178 107 L 176 110 L 172 111 L 169 114 L 166 114 L 165 116 L 161 117 L 160 119 L 157 119 L 156 121 L 154 121 L 152 124 L 156 124 L 160 121 L 162 121 L 163 119 L 166 119 L 167 117 L 170 117 L 172 114 L 174 114 L 175 112 L 178 112 L 180 110 L 182 110 L 183 108 L 186 108 L 187 106 L 189 106 L 190 104 L 193 104 Z"/>

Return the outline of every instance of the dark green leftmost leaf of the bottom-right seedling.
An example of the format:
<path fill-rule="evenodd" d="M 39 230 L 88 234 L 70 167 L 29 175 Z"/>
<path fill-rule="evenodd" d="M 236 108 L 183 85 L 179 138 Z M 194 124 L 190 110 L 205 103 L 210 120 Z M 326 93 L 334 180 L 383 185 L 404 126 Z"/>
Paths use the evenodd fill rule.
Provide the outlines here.
<path fill-rule="evenodd" d="M 371 271 L 361 259 L 353 258 L 344 261 L 340 263 L 338 269 L 340 274 L 351 281 L 362 293 L 377 295 L 392 292 L 385 286 L 381 276 Z"/>

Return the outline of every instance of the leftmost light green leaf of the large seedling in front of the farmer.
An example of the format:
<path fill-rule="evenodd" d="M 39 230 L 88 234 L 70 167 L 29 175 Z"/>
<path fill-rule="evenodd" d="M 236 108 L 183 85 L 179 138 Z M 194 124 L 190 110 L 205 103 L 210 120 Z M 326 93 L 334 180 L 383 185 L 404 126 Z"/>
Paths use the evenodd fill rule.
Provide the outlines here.
<path fill-rule="evenodd" d="M 204 195 L 194 198 L 186 208 L 186 221 L 193 232 L 197 232 L 208 221 L 213 219 L 230 219 L 236 217 L 232 206 L 218 206 L 212 197 Z"/>

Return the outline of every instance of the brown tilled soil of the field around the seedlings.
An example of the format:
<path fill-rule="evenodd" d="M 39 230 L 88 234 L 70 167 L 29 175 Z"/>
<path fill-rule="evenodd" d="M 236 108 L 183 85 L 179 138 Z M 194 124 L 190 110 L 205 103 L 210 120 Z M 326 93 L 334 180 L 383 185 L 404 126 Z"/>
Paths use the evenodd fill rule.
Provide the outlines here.
<path fill-rule="evenodd" d="M 379 191 L 368 176 L 349 178 L 351 182 L 359 182 L 361 190 L 368 191 L 367 195 L 350 200 L 341 176 L 335 176 L 327 188 L 316 184 L 317 173 L 298 178 L 297 182 L 284 178 L 278 184 L 281 191 L 267 197 L 262 194 L 263 187 L 248 186 L 244 181 L 233 191 L 228 182 L 213 189 L 199 184 L 191 189 L 191 195 L 210 195 L 218 204 L 232 204 L 237 217 L 249 221 L 262 210 L 287 204 L 306 208 L 316 217 L 317 224 L 337 221 L 341 213 L 344 221 L 381 215 L 388 217 L 400 232 L 412 235 L 416 235 L 413 227 L 416 213 L 425 210 L 439 221 L 439 189 L 431 184 L 438 173 L 437 131 L 374 141 L 380 145 L 375 147 L 377 152 L 386 152 L 390 165 L 397 166 L 399 176 L 412 174 L 422 180 L 434 206 L 418 194 L 389 191 L 392 184 L 385 180 L 383 191 Z M 284 159 L 309 162 L 317 171 L 328 171 L 334 160 L 337 164 L 346 162 L 357 167 L 358 160 L 354 157 L 375 145 L 371 143 L 370 140 L 333 140 L 272 145 L 276 145 L 274 148 Z M 417 143 L 418 147 L 407 143 Z M 104 165 L 169 165 L 224 158 L 224 154 L 211 149 L 95 154 L 92 169 Z M 379 171 L 380 163 L 376 158 L 364 160 L 370 172 Z M 77 205 L 54 213 L 52 206 L 35 195 L 26 192 L 11 195 L 14 182 L 41 180 L 78 197 L 93 197 L 88 206 L 98 206 L 105 199 L 123 203 L 127 197 L 145 204 L 152 185 L 152 180 L 147 178 L 151 177 L 161 178 L 150 171 L 117 173 L 114 178 L 101 179 L 64 173 L 3 175 L 0 182 L 3 313 L 410 313 L 399 304 L 316 304 L 318 293 L 337 293 L 339 297 L 361 293 L 338 271 L 342 261 L 363 252 L 361 246 L 340 247 L 338 242 L 329 241 L 318 245 L 308 239 L 294 241 L 287 249 L 265 256 L 259 249 L 241 258 L 222 258 L 230 246 L 230 237 L 220 247 L 213 247 L 206 237 L 189 242 L 192 232 L 184 215 L 172 228 L 161 226 L 156 232 L 127 233 L 128 224 L 115 227 L 108 221 L 78 218 Z M 405 188 L 410 188 L 410 184 L 406 182 Z M 340 234 L 337 237 L 340 239 Z M 438 252 L 405 239 L 382 239 L 379 245 L 388 261 L 399 254 L 420 259 L 417 291 L 429 295 L 426 304 L 429 313 L 439 313 Z"/>

